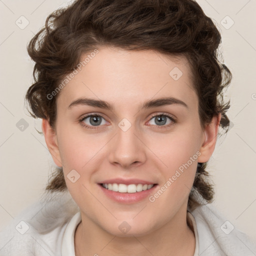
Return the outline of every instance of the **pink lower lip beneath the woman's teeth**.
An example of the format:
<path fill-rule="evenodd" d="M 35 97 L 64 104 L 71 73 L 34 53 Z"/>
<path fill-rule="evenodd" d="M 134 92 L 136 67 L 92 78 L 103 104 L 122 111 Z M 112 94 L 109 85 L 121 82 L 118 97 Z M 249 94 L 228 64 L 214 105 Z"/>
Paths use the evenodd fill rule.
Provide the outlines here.
<path fill-rule="evenodd" d="M 146 197 L 148 197 L 150 194 L 152 194 L 153 190 L 158 186 L 157 184 L 153 185 L 151 188 L 147 190 L 142 190 L 140 192 L 135 192 L 135 193 L 120 193 L 120 192 L 115 192 L 112 190 L 108 190 L 98 184 L 103 193 L 111 198 L 112 200 L 120 203 L 135 203 L 138 202 Z"/>

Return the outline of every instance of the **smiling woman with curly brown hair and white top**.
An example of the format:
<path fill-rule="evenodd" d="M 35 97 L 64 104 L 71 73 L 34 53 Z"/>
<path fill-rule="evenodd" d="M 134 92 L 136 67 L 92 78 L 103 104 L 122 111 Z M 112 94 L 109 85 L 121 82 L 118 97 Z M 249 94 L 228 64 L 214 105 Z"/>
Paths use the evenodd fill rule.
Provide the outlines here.
<path fill-rule="evenodd" d="M 220 40 L 193 0 L 76 0 L 49 15 L 28 45 L 26 99 L 58 168 L 2 255 L 255 254 L 208 204 L 206 164 L 229 125 Z"/>

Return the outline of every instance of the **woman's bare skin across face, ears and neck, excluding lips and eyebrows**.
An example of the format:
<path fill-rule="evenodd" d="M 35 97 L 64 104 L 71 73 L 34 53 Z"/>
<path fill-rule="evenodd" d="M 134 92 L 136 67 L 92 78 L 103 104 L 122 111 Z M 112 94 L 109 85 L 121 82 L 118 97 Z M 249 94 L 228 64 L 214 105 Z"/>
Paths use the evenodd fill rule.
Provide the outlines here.
<path fill-rule="evenodd" d="M 42 121 L 48 149 L 63 167 L 67 188 L 80 208 L 75 253 L 193 255 L 195 239 L 186 222 L 187 201 L 197 162 L 206 162 L 213 153 L 220 114 L 201 128 L 198 98 L 184 56 L 113 47 L 98 50 L 57 96 L 55 129 L 46 119 Z M 169 75 L 174 67 L 183 73 L 177 80 Z M 139 110 L 144 101 L 166 96 L 182 100 L 187 107 L 169 104 Z M 68 108 L 79 97 L 105 100 L 113 109 L 82 104 Z M 103 116 L 96 129 L 81 125 L 95 127 L 89 117 L 79 122 L 89 113 Z M 176 122 L 166 117 L 166 124 L 159 125 L 153 114 L 169 114 Z M 131 124 L 125 132 L 118 127 L 123 118 Z M 136 203 L 118 203 L 97 184 L 109 178 L 140 178 L 157 183 L 159 189 L 196 152 L 200 152 L 198 158 L 154 202 L 146 197 Z M 74 183 L 67 178 L 72 169 L 80 175 Z M 125 234 L 118 228 L 123 221 L 131 227 Z"/>

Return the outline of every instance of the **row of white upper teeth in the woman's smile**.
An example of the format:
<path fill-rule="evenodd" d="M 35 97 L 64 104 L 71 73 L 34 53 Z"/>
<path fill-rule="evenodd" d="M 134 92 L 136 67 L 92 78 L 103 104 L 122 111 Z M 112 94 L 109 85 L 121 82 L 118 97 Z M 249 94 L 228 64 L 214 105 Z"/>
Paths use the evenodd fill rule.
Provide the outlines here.
<path fill-rule="evenodd" d="M 108 190 L 112 190 L 120 193 L 135 193 L 142 190 L 150 189 L 153 184 L 117 184 L 117 183 L 104 183 L 102 186 Z"/>

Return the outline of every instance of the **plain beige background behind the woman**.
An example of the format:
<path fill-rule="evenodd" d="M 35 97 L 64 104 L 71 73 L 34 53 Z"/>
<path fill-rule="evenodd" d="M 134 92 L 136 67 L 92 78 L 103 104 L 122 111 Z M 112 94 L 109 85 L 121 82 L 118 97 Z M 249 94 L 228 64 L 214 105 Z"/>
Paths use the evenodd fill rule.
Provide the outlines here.
<path fill-rule="evenodd" d="M 26 44 L 46 16 L 66 3 L 0 0 L 0 228 L 38 199 L 54 166 L 43 136 L 35 130 L 40 130 L 40 121 L 24 109 L 33 68 Z M 227 114 L 233 126 L 220 137 L 209 161 L 216 191 L 214 204 L 235 228 L 256 241 L 256 1 L 198 3 L 222 34 L 220 49 L 233 74 L 226 92 L 231 98 Z M 22 27 L 26 22 L 29 24 Z M 28 123 L 23 131 L 16 127 L 21 118 Z"/>

